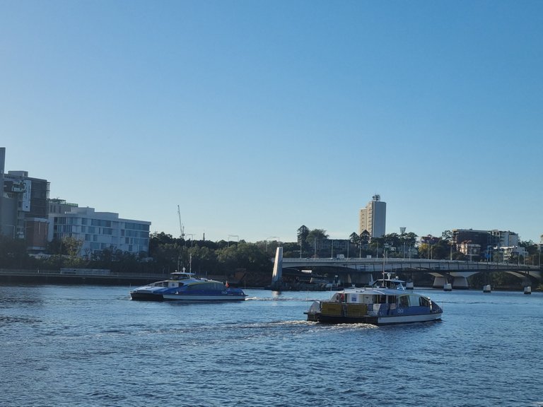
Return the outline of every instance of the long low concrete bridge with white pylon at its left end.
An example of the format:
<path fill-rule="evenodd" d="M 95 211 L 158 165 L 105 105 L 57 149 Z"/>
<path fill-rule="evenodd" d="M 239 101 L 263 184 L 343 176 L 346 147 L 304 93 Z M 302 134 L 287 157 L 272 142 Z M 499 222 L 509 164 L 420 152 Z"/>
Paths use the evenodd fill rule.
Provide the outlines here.
<path fill-rule="evenodd" d="M 278 247 L 274 261 L 273 283 L 279 283 L 284 270 L 298 271 L 316 267 L 332 267 L 342 281 L 368 284 L 375 273 L 429 273 L 434 276 L 433 287 L 443 288 L 452 283 L 452 288 L 468 288 L 467 278 L 477 273 L 503 271 L 522 279 L 529 277 L 541 280 L 539 266 L 496 263 L 491 261 L 457 261 L 397 258 L 284 258 L 283 248 Z"/>

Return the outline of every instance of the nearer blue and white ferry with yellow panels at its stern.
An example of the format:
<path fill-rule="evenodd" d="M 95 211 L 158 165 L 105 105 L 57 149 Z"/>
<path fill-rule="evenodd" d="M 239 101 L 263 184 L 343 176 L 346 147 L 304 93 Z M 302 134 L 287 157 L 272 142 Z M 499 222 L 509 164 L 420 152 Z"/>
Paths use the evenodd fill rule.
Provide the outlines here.
<path fill-rule="evenodd" d="M 308 321 L 327 324 L 388 325 L 437 321 L 443 309 L 429 297 L 405 290 L 403 281 L 389 277 L 369 288 L 337 291 L 328 301 L 313 302 L 305 314 Z"/>

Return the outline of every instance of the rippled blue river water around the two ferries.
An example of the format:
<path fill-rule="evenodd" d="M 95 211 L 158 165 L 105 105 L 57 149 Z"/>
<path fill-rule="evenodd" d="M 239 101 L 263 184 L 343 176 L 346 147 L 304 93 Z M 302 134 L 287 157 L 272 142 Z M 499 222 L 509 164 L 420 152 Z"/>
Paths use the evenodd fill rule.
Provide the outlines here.
<path fill-rule="evenodd" d="M 543 406 L 543 295 L 417 290 L 443 321 L 305 322 L 329 293 L 136 302 L 128 287 L 0 286 L 0 405 Z"/>

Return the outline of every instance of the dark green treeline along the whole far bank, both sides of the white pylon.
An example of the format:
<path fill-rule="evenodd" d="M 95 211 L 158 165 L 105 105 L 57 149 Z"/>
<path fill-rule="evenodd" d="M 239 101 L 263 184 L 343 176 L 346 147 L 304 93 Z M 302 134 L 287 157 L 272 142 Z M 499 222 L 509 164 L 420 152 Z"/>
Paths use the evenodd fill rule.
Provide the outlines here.
<path fill-rule="evenodd" d="M 117 273 L 168 274 L 175 270 L 192 270 L 199 275 L 222 276 L 224 279 L 252 283 L 269 278 L 273 263 L 270 259 L 276 247 L 283 247 L 285 257 L 403 257 L 423 259 L 467 260 L 452 244 L 452 233 L 445 230 L 441 237 L 421 237 L 413 232 L 390 233 L 383 237 L 351 233 L 345 240 L 330 240 L 326 230 L 310 230 L 305 225 L 298 228 L 297 242 L 263 240 L 255 243 L 245 240 L 211 242 L 210 240 L 185 240 L 164 232 L 150 236 L 149 252 L 131 254 L 120 250 L 104 249 L 96 253 L 83 253 L 81 241 L 66 238 L 49 242 L 45 256 L 29 256 L 24 240 L 13 240 L 0 235 L 0 269 L 51 269 L 63 267 L 110 269 Z M 527 249 L 526 258 L 513 255 L 512 262 L 539 265 L 537 244 L 520 242 Z M 516 256 L 516 257 L 515 257 Z M 472 260 L 479 260 L 475 258 Z"/>

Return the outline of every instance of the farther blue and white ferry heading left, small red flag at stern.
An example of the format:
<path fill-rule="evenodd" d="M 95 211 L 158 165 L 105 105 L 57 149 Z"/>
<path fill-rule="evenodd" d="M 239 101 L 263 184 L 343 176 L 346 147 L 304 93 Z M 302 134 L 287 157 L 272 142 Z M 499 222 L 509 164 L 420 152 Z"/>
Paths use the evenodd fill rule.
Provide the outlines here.
<path fill-rule="evenodd" d="M 130 291 L 132 300 L 144 301 L 243 301 L 247 295 L 228 283 L 176 271 L 169 280 L 156 281 Z"/>

